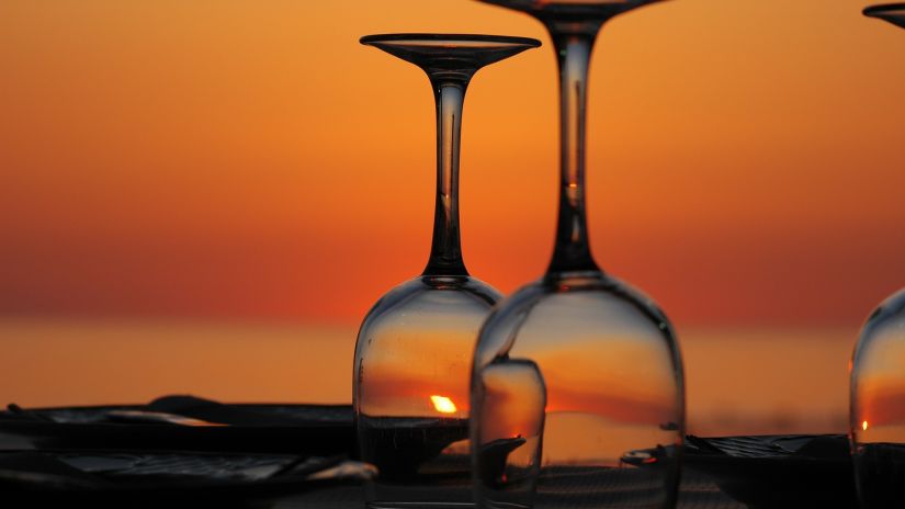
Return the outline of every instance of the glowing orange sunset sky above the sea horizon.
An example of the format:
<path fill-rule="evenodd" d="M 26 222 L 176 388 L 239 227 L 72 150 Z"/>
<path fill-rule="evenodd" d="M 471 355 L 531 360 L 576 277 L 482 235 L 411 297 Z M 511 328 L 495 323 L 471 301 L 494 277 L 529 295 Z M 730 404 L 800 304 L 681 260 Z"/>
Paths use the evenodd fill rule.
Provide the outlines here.
<path fill-rule="evenodd" d="M 674 0 L 591 67 L 591 241 L 683 324 L 858 324 L 905 285 L 905 33 L 864 1 Z M 4 0 L 0 315 L 357 321 L 427 259 L 433 108 L 369 33 L 525 35 L 466 99 L 463 247 L 552 249 L 554 58 L 470 0 Z"/>

